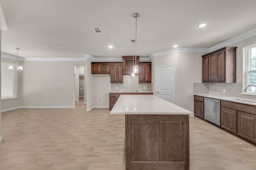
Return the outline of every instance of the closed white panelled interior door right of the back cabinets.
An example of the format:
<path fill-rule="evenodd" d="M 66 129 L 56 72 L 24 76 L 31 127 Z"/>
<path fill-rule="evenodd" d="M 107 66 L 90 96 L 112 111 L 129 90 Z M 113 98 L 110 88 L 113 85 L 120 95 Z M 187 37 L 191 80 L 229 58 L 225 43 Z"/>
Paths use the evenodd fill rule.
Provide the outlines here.
<path fill-rule="evenodd" d="M 174 66 L 156 67 L 155 95 L 174 103 Z"/>

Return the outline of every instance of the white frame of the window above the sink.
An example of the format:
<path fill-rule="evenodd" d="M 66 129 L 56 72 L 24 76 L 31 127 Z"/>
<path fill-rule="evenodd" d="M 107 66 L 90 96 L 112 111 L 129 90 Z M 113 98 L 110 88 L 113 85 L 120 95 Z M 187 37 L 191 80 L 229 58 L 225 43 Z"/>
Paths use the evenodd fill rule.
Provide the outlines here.
<path fill-rule="evenodd" d="M 249 45 L 247 47 L 244 47 L 244 89 L 245 87 L 247 87 L 248 85 L 248 81 L 249 81 L 249 74 L 252 73 L 252 72 L 255 72 L 256 73 L 256 70 L 249 70 L 249 57 L 250 57 L 250 54 L 249 54 L 249 49 L 253 49 L 253 48 L 256 48 L 256 44 L 253 44 L 253 45 Z M 255 92 L 243 92 L 243 93 L 247 93 L 247 94 L 255 94 Z"/>

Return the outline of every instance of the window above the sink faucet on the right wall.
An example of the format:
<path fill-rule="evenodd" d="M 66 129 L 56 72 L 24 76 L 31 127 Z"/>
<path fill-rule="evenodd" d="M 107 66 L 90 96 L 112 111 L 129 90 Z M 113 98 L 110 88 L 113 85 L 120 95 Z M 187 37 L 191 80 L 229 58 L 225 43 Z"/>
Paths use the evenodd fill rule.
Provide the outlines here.
<path fill-rule="evenodd" d="M 245 86 L 256 86 L 256 45 L 246 47 L 245 57 Z M 256 92 L 256 87 L 250 86 L 247 92 Z"/>

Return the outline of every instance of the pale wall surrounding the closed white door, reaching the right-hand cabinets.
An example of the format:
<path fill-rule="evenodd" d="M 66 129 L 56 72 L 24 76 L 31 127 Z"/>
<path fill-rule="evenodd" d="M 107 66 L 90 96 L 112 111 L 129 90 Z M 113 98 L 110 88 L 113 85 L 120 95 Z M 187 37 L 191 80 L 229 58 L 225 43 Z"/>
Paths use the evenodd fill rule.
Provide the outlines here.
<path fill-rule="evenodd" d="M 155 91 L 157 66 L 174 65 L 175 104 L 194 111 L 193 82 L 202 82 L 202 55 L 204 53 L 174 53 L 152 59 L 152 82 Z"/>

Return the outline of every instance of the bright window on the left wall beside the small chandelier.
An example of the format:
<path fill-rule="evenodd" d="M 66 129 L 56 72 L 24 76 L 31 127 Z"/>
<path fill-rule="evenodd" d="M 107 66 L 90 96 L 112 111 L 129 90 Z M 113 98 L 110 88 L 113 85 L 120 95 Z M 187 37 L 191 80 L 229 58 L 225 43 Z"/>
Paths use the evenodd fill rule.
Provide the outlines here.
<path fill-rule="evenodd" d="M 1 62 L 1 100 L 16 98 L 16 71 L 10 71 L 9 66 L 15 68 L 13 63 Z"/>

